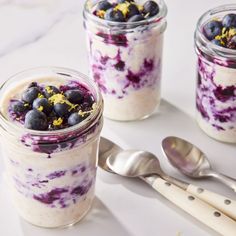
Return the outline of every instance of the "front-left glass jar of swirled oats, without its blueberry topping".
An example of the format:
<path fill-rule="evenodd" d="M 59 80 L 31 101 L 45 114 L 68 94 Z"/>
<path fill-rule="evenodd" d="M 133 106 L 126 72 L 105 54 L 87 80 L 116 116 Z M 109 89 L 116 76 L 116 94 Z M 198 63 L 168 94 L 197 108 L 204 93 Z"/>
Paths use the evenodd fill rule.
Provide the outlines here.
<path fill-rule="evenodd" d="M 35 131 L 7 118 L 9 96 L 30 82 L 63 85 L 79 82 L 96 107 L 81 123 L 56 131 Z M 38 68 L 14 75 L 0 88 L 0 134 L 5 180 L 19 214 L 42 227 L 78 222 L 94 198 L 103 101 L 96 84 L 77 71 Z M 7 102 L 8 101 L 8 102 Z"/>

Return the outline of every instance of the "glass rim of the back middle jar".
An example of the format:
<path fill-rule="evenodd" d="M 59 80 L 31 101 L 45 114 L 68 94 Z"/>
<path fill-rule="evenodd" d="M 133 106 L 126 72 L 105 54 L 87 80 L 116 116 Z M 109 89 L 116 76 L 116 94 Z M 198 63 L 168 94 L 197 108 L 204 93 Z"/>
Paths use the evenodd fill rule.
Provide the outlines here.
<path fill-rule="evenodd" d="M 86 0 L 86 2 L 84 4 L 84 10 L 83 10 L 84 20 L 89 19 L 89 20 L 96 22 L 100 26 L 109 27 L 109 28 L 117 28 L 118 30 L 120 30 L 124 27 L 126 27 L 127 30 L 130 30 L 132 28 L 136 28 L 137 26 L 143 26 L 143 25 L 147 25 L 147 24 L 157 23 L 166 17 L 167 11 L 168 11 L 164 0 L 158 0 L 158 2 L 160 4 L 159 5 L 160 11 L 157 15 L 150 17 L 149 19 L 144 19 L 144 20 L 137 21 L 137 22 L 114 22 L 114 21 L 108 21 L 105 19 L 101 19 L 101 18 L 95 16 L 93 13 L 91 13 L 91 11 L 89 9 L 89 2 L 90 1 L 91 0 Z"/>

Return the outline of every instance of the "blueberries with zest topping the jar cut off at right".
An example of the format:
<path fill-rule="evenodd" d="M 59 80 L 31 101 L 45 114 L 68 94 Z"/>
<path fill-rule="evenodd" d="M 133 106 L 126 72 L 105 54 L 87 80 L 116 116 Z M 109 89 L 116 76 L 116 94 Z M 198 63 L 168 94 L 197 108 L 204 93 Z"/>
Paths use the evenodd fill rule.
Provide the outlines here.
<path fill-rule="evenodd" d="M 203 33 L 212 43 L 236 49 L 236 14 L 225 15 L 222 20 L 212 20 L 204 25 Z"/>

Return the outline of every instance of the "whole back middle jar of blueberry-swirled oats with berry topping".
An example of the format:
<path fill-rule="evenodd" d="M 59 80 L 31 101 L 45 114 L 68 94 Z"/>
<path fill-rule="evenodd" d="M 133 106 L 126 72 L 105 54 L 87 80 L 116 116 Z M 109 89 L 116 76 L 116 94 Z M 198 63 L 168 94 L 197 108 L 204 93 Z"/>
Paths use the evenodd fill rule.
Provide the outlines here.
<path fill-rule="evenodd" d="M 87 0 L 90 75 L 102 92 L 104 116 L 137 120 L 158 107 L 166 13 L 162 0 Z"/>

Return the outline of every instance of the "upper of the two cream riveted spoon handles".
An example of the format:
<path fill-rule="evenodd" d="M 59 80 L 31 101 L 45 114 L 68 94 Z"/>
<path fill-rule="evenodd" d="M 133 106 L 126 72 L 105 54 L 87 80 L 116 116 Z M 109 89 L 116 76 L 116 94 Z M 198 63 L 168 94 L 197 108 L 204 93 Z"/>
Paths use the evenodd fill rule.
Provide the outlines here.
<path fill-rule="evenodd" d="M 207 202 L 227 216 L 236 220 L 236 201 L 192 184 L 189 184 L 187 192 L 195 195 L 199 199 Z"/>

